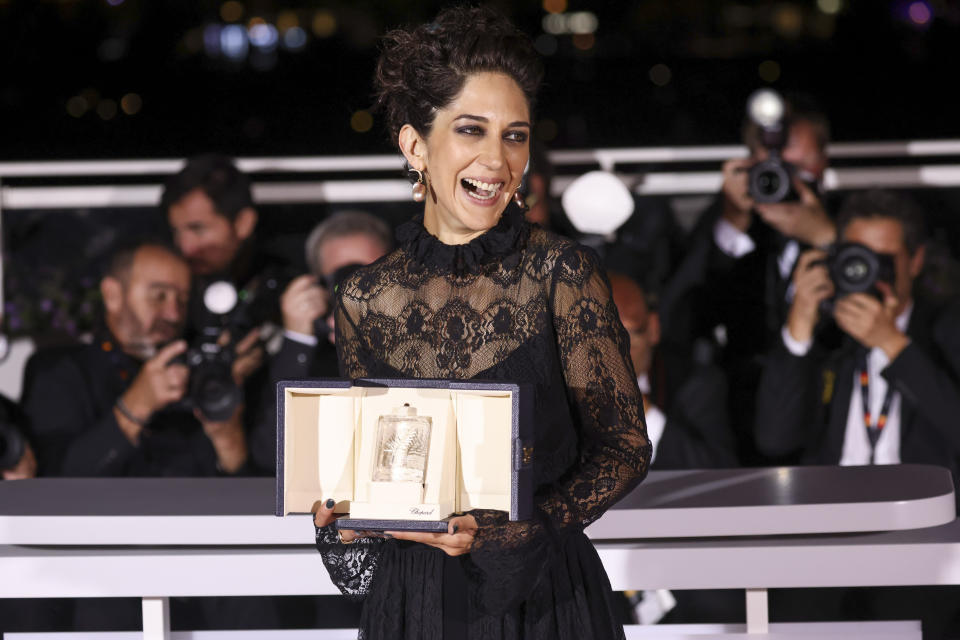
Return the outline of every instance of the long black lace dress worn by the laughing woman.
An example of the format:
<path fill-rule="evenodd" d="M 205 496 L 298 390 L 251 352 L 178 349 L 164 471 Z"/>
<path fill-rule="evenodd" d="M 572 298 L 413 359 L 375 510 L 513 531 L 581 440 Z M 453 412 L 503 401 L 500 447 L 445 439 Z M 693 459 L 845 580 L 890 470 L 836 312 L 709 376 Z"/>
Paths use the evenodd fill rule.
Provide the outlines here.
<path fill-rule="evenodd" d="M 465 245 L 422 219 L 341 287 L 350 378 L 501 379 L 535 385 L 536 518 L 472 511 L 471 553 L 317 530 L 330 576 L 364 597 L 360 637 L 622 638 L 610 584 L 583 533 L 646 474 L 650 445 L 629 341 L 596 255 L 531 227 L 513 206 Z"/>

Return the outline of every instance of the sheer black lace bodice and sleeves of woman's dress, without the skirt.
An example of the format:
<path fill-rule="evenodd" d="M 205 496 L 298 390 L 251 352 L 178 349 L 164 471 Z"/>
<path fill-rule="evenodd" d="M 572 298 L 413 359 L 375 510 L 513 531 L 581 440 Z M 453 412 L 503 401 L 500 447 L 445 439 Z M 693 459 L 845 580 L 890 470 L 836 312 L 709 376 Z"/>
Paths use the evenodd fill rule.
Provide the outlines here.
<path fill-rule="evenodd" d="M 466 245 L 444 245 L 419 220 L 400 246 L 339 290 L 342 375 L 533 383 L 537 517 L 475 511 L 476 597 L 516 605 L 542 564 L 646 474 L 642 401 L 606 276 L 595 254 L 508 209 Z M 335 544 L 318 531 L 331 576 L 363 595 L 382 544 Z M 538 566 L 540 565 L 540 566 Z"/>

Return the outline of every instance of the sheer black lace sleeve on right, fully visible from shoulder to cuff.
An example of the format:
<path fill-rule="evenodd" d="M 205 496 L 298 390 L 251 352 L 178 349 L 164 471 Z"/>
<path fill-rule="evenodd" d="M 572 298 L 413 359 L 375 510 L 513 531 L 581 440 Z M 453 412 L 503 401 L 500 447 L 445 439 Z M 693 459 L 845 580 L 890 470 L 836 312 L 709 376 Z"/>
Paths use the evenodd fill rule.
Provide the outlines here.
<path fill-rule="evenodd" d="M 629 357 L 629 338 L 595 254 L 571 246 L 559 257 L 550 293 L 567 397 L 578 421 L 579 456 L 536 496 L 537 517 L 509 522 L 477 511 L 471 556 L 486 580 L 487 608 L 510 606 L 532 588 L 562 538 L 599 518 L 646 475 L 651 445 Z"/>

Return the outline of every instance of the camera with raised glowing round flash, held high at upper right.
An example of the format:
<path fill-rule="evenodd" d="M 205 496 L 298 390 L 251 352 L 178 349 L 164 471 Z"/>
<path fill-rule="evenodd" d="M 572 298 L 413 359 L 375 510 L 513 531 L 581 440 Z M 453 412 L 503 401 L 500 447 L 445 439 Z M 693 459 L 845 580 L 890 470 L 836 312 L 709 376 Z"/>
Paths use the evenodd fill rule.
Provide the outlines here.
<path fill-rule="evenodd" d="M 760 144 L 767 150 L 767 158 L 750 167 L 747 176 L 750 197 L 754 202 L 767 204 L 799 200 L 793 186 L 799 171 L 781 155 L 790 130 L 783 98 L 772 89 L 755 91 L 747 100 L 747 115 L 759 127 Z"/>

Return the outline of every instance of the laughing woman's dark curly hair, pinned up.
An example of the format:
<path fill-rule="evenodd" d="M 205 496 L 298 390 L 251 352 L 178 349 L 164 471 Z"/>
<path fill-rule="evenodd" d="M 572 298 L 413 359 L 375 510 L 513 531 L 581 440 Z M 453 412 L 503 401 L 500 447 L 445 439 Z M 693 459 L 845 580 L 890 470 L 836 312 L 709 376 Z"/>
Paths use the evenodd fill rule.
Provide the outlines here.
<path fill-rule="evenodd" d="M 513 78 L 533 109 L 543 77 L 540 58 L 530 39 L 497 11 L 450 7 L 433 22 L 388 32 L 377 61 L 375 106 L 392 142 L 405 124 L 429 135 L 436 110 L 460 94 L 469 75 L 483 71 Z"/>

